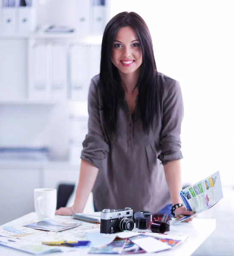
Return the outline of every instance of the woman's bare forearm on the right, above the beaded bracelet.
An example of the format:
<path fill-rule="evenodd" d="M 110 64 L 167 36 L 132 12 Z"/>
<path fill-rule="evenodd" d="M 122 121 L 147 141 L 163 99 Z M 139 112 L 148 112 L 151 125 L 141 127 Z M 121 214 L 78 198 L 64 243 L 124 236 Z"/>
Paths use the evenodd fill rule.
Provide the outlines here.
<path fill-rule="evenodd" d="M 171 195 L 172 204 L 181 203 L 179 191 L 182 189 L 181 185 L 181 165 L 180 160 L 174 160 L 164 166 L 166 182 Z"/>

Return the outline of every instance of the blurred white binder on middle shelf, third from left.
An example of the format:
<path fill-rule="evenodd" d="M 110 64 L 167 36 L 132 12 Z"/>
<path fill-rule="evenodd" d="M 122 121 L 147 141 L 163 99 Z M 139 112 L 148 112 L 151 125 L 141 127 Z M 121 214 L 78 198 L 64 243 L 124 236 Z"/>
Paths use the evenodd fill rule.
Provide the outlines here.
<path fill-rule="evenodd" d="M 70 46 L 70 86 L 69 96 L 72 100 L 87 100 L 87 47 L 79 44 Z"/>

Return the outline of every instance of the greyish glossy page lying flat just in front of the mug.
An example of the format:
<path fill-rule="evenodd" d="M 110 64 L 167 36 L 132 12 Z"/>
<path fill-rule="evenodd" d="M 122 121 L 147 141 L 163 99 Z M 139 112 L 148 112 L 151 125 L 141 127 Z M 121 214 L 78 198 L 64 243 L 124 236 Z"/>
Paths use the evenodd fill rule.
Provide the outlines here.
<path fill-rule="evenodd" d="M 65 223 L 65 222 L 56 221 L 56 220 L 46 220 L 46 221 L 37 221 L 34 223 L 26 224 L 23 227 L 29 227 L 36 230 L 59 232 L 59 231 L 68 230 L 74 227 L 78 227 L 80 225 L 82 225 L 82 223 L 80 222 Z"/>

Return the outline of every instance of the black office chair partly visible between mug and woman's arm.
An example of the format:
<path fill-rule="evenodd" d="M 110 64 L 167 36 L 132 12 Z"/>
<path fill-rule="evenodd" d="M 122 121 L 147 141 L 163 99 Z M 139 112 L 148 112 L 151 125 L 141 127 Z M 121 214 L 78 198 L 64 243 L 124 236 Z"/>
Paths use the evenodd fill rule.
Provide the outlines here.
<path fill-rule="evenodd" d="M 73 193 L 75 184 L 60 183 L 57 189 L 57 209 L 66 207 L 70 195 Z"/>

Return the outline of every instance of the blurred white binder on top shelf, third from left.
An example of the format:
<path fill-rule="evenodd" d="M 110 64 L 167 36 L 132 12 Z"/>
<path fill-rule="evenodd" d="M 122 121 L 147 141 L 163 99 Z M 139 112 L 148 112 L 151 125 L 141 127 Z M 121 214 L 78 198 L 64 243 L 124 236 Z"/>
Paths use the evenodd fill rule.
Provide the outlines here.
<path fill-rule="evenodd" d="M 77 0 L 77 9 L 75 12 L 77 32 L 81 37 L 88 35 L 90 23 L 90 0 Z"/>

